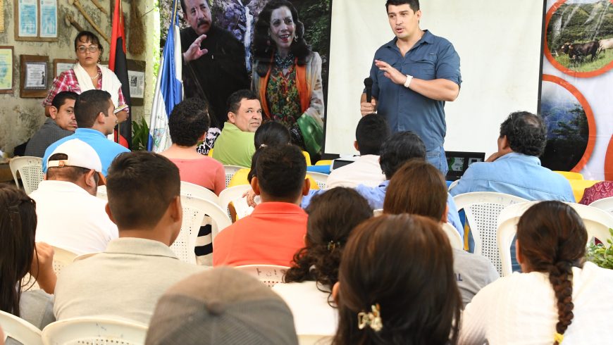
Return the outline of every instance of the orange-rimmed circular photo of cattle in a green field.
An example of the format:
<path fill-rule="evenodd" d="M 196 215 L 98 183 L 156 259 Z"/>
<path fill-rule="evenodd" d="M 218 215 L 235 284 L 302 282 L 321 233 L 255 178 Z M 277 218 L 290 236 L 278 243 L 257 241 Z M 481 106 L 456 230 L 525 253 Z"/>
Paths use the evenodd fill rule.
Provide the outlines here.
<path fill-rule="evenodd" d="M 545 16 L 545 56 L 574 77 L 613 68 L 613 0 L 559 0 Z"/>

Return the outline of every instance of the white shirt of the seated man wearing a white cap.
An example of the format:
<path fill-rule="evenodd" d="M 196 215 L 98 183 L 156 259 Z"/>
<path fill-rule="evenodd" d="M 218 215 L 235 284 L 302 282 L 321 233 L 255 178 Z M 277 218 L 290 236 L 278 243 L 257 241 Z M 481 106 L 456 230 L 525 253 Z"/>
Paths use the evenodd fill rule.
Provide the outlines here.
<path fill-rule="evenodd" d="M 41 181 L 36 201 L 36 241 L 75 254 L 104 251 L 119 234 L 104 211 L 106 203 L 73 182 Z"/>

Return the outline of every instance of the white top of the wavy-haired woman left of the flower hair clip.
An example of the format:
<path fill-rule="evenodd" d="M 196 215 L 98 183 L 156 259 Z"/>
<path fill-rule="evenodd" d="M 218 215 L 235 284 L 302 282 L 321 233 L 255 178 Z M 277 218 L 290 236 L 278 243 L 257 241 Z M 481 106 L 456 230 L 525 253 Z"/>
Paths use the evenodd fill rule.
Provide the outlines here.
<path fill-rule="evenodd" d="M 273 291 L 290 306 L 298 335 L 336 334 L 338 309 L 328 304 L 330 293 L 318 290 L 316 282 L 276 284 Z"/>

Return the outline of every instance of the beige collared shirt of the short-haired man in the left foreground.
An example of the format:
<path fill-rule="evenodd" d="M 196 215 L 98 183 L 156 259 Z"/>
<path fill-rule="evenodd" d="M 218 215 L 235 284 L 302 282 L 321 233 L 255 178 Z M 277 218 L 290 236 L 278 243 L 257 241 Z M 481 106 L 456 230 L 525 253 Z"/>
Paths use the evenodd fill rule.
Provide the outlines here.
<path fill-rule="evenodd" d="M 55 289 L 58 320 L 111 315 L 149 325 L 157 300 L 203 266 L 180 261 L 158 241 L 114 239 L 106 251 L 63 268 Z"/>

